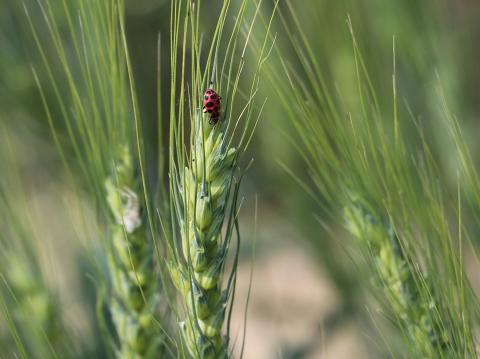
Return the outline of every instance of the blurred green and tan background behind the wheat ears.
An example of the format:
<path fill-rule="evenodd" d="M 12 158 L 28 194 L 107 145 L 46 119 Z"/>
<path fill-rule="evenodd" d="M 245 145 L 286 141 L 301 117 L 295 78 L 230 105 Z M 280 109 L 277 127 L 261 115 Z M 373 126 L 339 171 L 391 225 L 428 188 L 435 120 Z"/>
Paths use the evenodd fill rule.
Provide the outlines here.
<path fill-rule="evenodd" d="M 216 6 L 216 0 L 205 3 Z M 35 3 L 25 1 L 25 4 L 29 9 L 36 9 L 30 10 L 30 15 L 40 24 L 42 14 Z M 386 114 L 391 113 L 393 103 L 395 41 L 400 111 L 407 114 L 409 108 L 422 124 L 441 163 L 442 180 L 454 190 L 456 173 L 452 171 L 452 161 L 455 158 L 451 155 L 446 133 L 439 125 L 441 106 L 436 88 L 441 83 L 478 162 L 480 2 L 302 0 L 293 5 L 326 82 L 333 91 L 342 94 L 352 111 L 358 110 L 358 103 L 347 16 L 352 20 Z M 264 1 L 265 13 L 272 7 L 273 3 Z M 159 140 L 157 128 L 168 128 L 168 123 L 159 124 L 156 117 L 156 46 L 160 34 L 162 78 L 168 84 L 170 2 L 130 0 L 126 14 L 127 40 L 143 115 L 147 154 L 154 158 Z M 281 16 L 287 22 L 292 21 L 282 1 L 275 21 L 276 46 L 283 51 L 283 60 L 296 66 Z M 213 23 L 209 18 L 202 21 L 205 28 Z M 60 15 L 58 23 L 60 28 L 62 24 L 66 27 Z M 40 37 L 46 38 L 46 29 L 39 29 Z M 45 44 L 48 46 L 48 41 Z M 289 53 L 292 58 L 288 57 Z M 47 51 L 46 56 L 52 56 L 50 60 L 55 63 L 51 53 Z M 278 64 L 276 56 L 272 53 L 268 66 Z M 8 212 L 13 218 L 21 217 L 18 227 L 26 228 L 23 234 L 26 239 L 14 240 L 22 236 L 9 228 L 13 219 L 6 220 L 7 213 L 2 214 L 1 248 L 5 250 L 1 255 L 8 257 L 12 251 L 21 253 L 18 261 L 26 262 L 33 272 L 42 273 L 52 292 L 58 294 L 62 321 L 76 333 L 80 355 L 103 357 L 105 348 L 95 335 L 98 330 L 94 324 L 96 284 L 89 256 L 96 247 L 95 235 L 94 229 L 88 231 L 82 225 L 85 221 L 93 222 L 88 218 L 93 204 L 88 198 L 80 200 L 81 195 L 76 196 L 67 185 L 31 71 L 32 67 L 39 66 L 40 60 L 22 2 L 0 0 L 0 129 L 5 135 L 0 144 L 3 164 L 0 176 L 9 194 Z M 278 76 L 283 76 L 280 71 Z M 39 72 L 39 78 L 47 96 L 53 96 L 47 74 Z M 365 310 L 368 298 L 362 293 L 357 269 L 349 258 L 348 239 L 332 236 L 325 230 L 328 223 L 321 224 L 322 211 L 318 204 L 280 165 L 286 165 L 308 182 L 309 173 L 286 136 L 291 125 L 282 115 L 275 91 L 265 82 L 261 92 L 261 96 L 268 97 L 268 102 L 246 156 L 247 160 L 254 158 L 254 164 L 243 187 L 245 248 L 237 292 L 238 313 L 234 317 L 234 323 L 242 321 L 258 199 L 255 273 L 245 357 L 382 357 L 385 349 L 381 339 L 375 338 L 371 314 Z M 167 100 L 168 91 L 164 91 L 164 96 Z M 55 113 L 55 108 L 53 111 Z M 168 111 L 165 107 L 165 114 Z M 413 123 L 411 127 L 414 131 Z M 2 210 L 4 208 L 2 206 Z M 32 240 L 29 233 L 36 233 L 36 238 Z M 11 249 L 9 243 L 12 242 L 27 242 L 28 245 L 20 246 L 21 249 L 15 245 L 16 249 Z M 2 258 L 0 271 L 7 273 L 9 268 L 11 265 Z M 478 287 L 478 278 L 473 277 L 472 281 Z M 2 287 L 2 291 L 4 289 Z M 39 297 L 42 295 L 41 289 L 34 285 L 25 285 L 25 290 Z M 6 295 L 3 297 L 5 300 Z M 0 337 L 3 338 L 0 339 L 2 348 L 14 345 L 6 326 L 1 324 Z"/>

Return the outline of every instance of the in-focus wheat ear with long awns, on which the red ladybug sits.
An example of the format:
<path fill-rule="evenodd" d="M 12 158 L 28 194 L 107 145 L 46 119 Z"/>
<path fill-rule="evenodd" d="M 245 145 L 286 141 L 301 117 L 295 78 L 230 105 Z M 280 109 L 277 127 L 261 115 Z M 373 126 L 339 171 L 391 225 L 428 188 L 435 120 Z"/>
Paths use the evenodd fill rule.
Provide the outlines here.
<path fill-rule="evenodd" d="M 206 12 L 200 3 L 178 1 L 171 11 L 171 232 L 179 234 L 171 237 L 167 258 L 179 292 L 181 337 L 193 358 L 230 357 L 240 245 L 239 161 L 262 109 L 255 95 L 268 55 L 266 34 L 258 58 L 252 61 L 246 51 L 260 3 L 241 1 L 235 6 L 224 1 L 214 30 L 204 36 L 199 23 Z M 230 16 L 235 21 L 227 31 Z M 208 88 L 221 96 L 218 122 L 202 111 Z"/>

